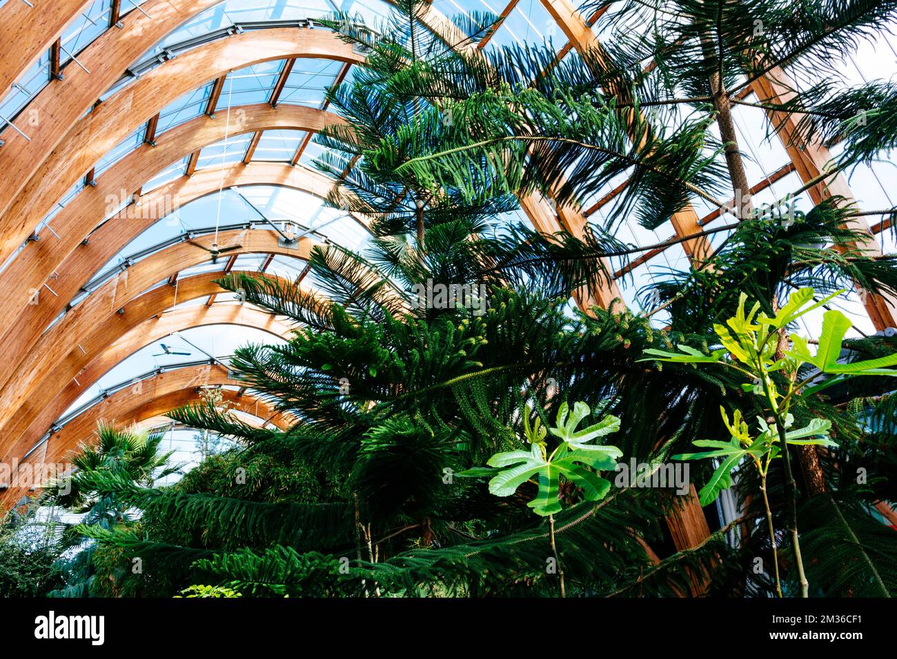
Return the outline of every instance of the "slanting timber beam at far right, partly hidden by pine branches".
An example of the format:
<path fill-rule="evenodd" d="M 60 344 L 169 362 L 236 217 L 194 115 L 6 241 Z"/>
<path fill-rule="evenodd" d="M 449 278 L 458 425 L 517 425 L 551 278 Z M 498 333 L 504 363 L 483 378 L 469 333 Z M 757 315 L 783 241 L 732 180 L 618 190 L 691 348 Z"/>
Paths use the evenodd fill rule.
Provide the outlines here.
<path fill-rule="evenodd" d="M 753 81 L 751 89 L 761 103 L 778 105 L 793 100 L 795 97 L 794 84 L 788 81 L 787 74 L 780 68 L 775 68 L 769 74 Z M 794 117 L 774 110 L 767 109 L 765 111 L 772 126 L 776 129 L 776 133 L 779 134 L 779 139 L 785 147 L 785 151 L 788 152 L 788 158 L 797 169 L 800 179 L 805 184 L 818 180 L 823 173 L 828 171 L 827 165 L 832 160 L 832 153 L 818 141 L 808 143 L 800 139 Z M 810 187 L 807 192 L 814 204 L 820 204 L 823 199 L 832 196 L 843 197 L 846 204 L 856 201 L 847 178 L 841 172 Z M 849 228 L 867 234 L 868 240 L 857 246 L 867 256 L 882 255 L 882 249 L 875 241 L 865 219 L 854 217 L 849 223 Z M 869 319 L 872 320 L 876 330 L 897 326 L 897 320 L 895 320 L 897 318 L 897 300 L 874 294 L 865 294 L 863 299 Z"/>

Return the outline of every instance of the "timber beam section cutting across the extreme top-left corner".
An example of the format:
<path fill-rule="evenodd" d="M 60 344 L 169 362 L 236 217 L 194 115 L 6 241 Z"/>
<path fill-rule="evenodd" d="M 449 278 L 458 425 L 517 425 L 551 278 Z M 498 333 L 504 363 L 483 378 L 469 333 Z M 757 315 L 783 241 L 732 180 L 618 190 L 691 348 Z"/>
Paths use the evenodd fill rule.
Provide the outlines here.
<path fill-rule="evenodd" d="M 59 38 L 91 0 L 16 0 L 0 20 L 0 96 Z"/>

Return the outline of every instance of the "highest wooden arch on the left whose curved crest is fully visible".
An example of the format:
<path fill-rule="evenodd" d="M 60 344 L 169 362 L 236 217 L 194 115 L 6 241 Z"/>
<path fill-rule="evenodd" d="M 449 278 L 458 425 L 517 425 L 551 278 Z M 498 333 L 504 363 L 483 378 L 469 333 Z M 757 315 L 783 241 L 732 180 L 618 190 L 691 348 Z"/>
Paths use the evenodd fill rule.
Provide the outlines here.
<path fill-rule="evenodd" d="M 15 172 L 8 177 L 0 192 L 0 261 L 13 254 L 45 217 L 65 192 L 82 178 L 100 158 L 121 143 L 136 128 L 145 124 L 161 108 L 211 82 L 232 69 L 284 57 L 326 57 L 341 62 L 360 62 L 363 57 L 352 47 L 327 30 L 298 30 L 277 28 L 250 30 L 229 39 L 218 39 L 194 48 L 183 55 L 156 66 L 136 82 L 109 97 L 90 114 L 83 117 L 59 141 L 53 151 L 40 163 L 39 175 L 22 181 L 18 194 L 8 205 L 4 197 L 19 186 Z M 71 91 L 71 90 L 70 90 Z M 230 125 L 231 134 L 244 133 L 239 111 L 231 117 L 221 113 L 218 123 Z M 40 126 L 39 133 L 49 133 Z M 168 136 L 161 135 L 159 142 Z M 4 155 L 37 160 L 41 157 L 36 141 L 24 148 L 0 151 L 0 171 L 4 169 Z M 164 164 L 158 169 L 162 169 Z M 33 176 L 33 178 L 31 178 Z M 102 177 L 100 177 L 102 178 Z M 61 231 L 57 230 L 57 233 Z"/>

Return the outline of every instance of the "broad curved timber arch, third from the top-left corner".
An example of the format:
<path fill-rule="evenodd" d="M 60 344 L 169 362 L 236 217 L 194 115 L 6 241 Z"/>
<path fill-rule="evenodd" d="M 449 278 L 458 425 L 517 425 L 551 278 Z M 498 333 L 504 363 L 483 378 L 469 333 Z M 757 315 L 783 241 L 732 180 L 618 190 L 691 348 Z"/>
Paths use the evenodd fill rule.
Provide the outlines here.
<path fill-rule="evenodd" d="M 110 30 L 106 36 L 122 37 L 122 31 Z M 90 56 L 115 61 L 113 53 L 95 50 L 101 46 L 101 39 L 87 48 L 85 62 Z M 145 49 L 146 41 L 143 43 Z M 327 30 L 274 28 L 243 32 L 187 51 L 114 93 L 86 116 L 92 102 L 124 73 L 124 64 L 114 70 L 107 64 L 110 78 L 100 91 L 93 89 L 95 84 L 83 87 L 73 81 L 65 87 L 45 88 L 29 105 L 39 117 L 39 130 L 31 141 L 18 134 L 16 140 L 7 135 L 9 130 L 3 133 L 7 141 L 0 148 L 0 171 L 5 177 L 0 188 L 0 262 L 22 245 L 37 222 L 84 172 L 161 108 L 233 69 L 286 57 L 363 61 L 363 56 Z M 92 67 L 88 64 L 91 75 L 86 76 L 91 82 L 101 75 Z M 46 106 L 54 108 L 58 118 L 48 114 Z M 73 115 L 66 108 L 83 109 Z M 235 121 L 231 112 L 231 126 L 239 126 L 240 121 L 239 115 Z"/>

